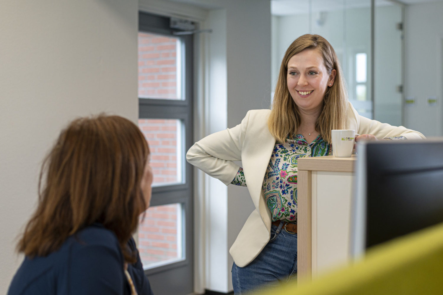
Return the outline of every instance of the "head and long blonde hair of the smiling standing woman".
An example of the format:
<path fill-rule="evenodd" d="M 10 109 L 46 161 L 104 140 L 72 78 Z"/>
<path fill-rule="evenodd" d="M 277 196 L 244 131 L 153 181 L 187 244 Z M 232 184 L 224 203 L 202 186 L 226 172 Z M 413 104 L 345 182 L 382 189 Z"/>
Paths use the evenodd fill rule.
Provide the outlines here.
<path fill-rule="evenodd" d="M 280 142 L 294 129 L 308 142 L 319 135 L 330 142 L 330 130 L 344 129 L 349 108 L 334 48 L 322 36 L 300 36 L 289 46 L 280 67 L 268 121 L 271 132 Z"/>

